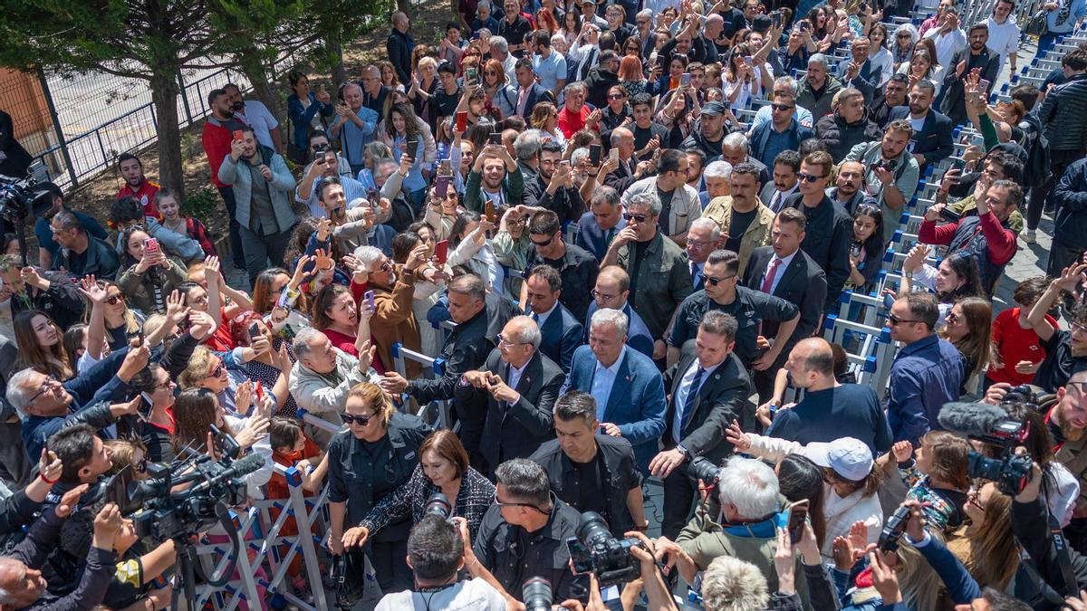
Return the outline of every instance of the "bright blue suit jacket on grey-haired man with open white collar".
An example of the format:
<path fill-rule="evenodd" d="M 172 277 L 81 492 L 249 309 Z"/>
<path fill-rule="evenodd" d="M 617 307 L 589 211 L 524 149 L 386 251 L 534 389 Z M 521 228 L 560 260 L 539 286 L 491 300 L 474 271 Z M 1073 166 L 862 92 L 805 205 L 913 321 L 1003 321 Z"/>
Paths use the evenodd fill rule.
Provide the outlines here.
<path fill-rule="evenodd" d="M 664 381 L 653 360 L 637 350 L 624 350 L 619 373 L 608 396 L 600 422 L 617 424 L 623 437 L 634 446 L 634 458 L 642 473 L 657 454 L 657 442 L 664 433 Z M 569 390 L 592 391 L 597 357 L 588 346 L 574 352 L 570 375 L 561 395 Z"/>

